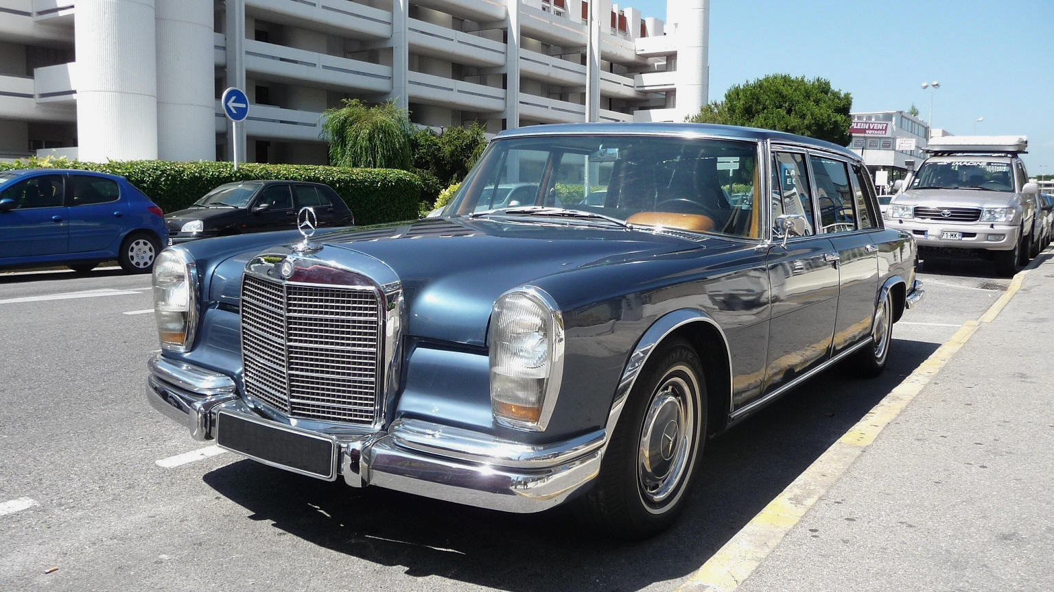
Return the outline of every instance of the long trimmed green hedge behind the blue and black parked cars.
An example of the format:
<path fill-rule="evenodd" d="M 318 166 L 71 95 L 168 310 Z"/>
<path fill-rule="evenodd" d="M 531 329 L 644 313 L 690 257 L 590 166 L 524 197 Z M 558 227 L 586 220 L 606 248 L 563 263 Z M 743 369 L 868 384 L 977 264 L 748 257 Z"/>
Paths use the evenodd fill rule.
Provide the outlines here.
<path fill-rule="evenodd" d="M 422 191 L 422 182 L 416 175 L 393 169 L 341 169 L 310 164 L 247 162 L 235 171 L 230 162 L 128 160 L 96 163 L 50 158 L 0 162 L 0 170 L 38 166 L 79 169 L 120 175 L 139 188 L 165 212 L 182 210 L 216 185 L 232 181 L 288 179 L 326 183 L 348 203 L 357 224 L 416 218 Z"/>

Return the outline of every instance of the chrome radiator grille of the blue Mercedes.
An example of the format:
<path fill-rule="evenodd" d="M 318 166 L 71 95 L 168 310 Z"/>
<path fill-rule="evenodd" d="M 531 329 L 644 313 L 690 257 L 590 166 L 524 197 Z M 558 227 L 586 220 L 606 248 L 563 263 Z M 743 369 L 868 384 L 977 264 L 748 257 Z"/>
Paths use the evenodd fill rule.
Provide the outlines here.
<path fill-rule="evenodd" d="M 246 393 L 294 417 L 370 425 L 377 408 L 380 305 L 366 289 L 246 274 Z"/>

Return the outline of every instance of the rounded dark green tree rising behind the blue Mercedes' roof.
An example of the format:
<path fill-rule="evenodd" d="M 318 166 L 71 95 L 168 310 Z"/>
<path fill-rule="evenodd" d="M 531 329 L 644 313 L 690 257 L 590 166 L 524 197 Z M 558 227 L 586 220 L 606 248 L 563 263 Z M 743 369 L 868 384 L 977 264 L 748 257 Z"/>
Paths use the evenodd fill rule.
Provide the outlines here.
<path fill-rule="evenodd" d="M 850 143 L 853 97 L 823 78 L 770 74 L 737 84 L 724 99 L 703 105 L 687 119 L 697 123 L 746 125 Z"/>

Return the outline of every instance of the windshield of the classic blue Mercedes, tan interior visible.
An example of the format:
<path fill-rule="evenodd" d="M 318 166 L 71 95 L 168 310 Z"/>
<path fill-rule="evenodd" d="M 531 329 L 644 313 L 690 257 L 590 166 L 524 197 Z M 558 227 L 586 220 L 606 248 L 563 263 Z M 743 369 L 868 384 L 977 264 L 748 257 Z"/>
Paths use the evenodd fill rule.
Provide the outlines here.
<path fill-rule="evenodd" d="M 606 219 L 753 238 L 761 234 L 756 170 L 752 141 L 660 135 L 509 138 L 487 149 L 447 213 L 559 218 L 566 224 Z"/>

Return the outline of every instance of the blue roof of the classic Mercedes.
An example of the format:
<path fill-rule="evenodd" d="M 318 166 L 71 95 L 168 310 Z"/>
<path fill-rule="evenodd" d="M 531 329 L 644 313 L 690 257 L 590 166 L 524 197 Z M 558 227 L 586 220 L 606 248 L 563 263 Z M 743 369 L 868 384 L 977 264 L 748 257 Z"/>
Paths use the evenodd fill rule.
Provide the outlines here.
<path fill-rule="evenodd" d="M 806 136 L 787 134 L 786 132 L 776 132 L 773 130 L 761 130 L 759 127 L 741 127 L 739 125 L 718 125 L 716 123 L 641 123 L 641 122 L 616 122 L 616 123 L 552 123 L 545 125 L 528 125 L 506 130 L 499 134 L 495 139 L 504 139 L 519 136 L 542 136 L 555 134 L 656 134 L 656 135 L 706 135 L 718 136 L 736 140 L 772 140 L 776 142 L 793 142 L 806 146 L 823 149 L 836 152 L 853 160 L 860 160 L 860 156 L 845 146 L 825 140 L 818 140 Z"/>

